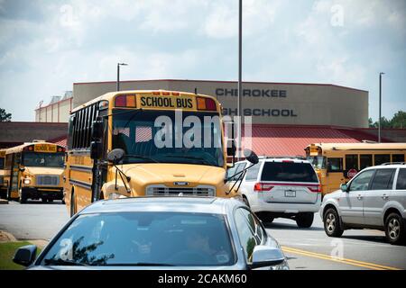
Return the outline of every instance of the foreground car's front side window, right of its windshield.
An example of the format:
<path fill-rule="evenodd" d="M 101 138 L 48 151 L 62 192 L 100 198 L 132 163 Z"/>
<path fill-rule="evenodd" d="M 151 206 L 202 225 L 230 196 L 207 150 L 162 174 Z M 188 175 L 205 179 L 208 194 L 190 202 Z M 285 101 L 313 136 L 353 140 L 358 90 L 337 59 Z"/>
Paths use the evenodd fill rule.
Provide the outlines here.
<path fill-rule="evenodd" d="M 257 239 L 254 236 L 253 230 L 250 228 L 250 223 L 247 221 L 243 209 L 239 208 L 235 211 L 235 226 L 240 238 L 241 246 L 244 249 L 247 263 L 252 262 L 254 247 L 257 245 Z"/>

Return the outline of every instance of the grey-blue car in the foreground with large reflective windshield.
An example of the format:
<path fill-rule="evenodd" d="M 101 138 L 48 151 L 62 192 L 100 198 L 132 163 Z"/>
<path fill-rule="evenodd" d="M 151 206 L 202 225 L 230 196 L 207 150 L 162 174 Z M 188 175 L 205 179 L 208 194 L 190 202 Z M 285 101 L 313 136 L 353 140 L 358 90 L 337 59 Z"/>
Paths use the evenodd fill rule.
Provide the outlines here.
<path fill-rule="evenodd" d="M 29 269 L 289 269 L 281 247 L 235 199 L 140 197 L 96 202 L 78 212 Z"/>

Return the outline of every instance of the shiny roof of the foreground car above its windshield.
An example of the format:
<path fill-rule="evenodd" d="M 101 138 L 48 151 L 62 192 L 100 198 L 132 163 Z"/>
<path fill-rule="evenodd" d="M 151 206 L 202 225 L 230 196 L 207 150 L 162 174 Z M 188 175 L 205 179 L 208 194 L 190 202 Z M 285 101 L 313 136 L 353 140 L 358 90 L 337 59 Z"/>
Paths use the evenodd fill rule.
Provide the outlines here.
<path fill-rule="evenodd" d="M 238 204 L 235 199 L 199 196 L 146 196 L 103 200 L 93 203 L 79 214 L 117 211 L 164 211 L 226 214 Z"/>

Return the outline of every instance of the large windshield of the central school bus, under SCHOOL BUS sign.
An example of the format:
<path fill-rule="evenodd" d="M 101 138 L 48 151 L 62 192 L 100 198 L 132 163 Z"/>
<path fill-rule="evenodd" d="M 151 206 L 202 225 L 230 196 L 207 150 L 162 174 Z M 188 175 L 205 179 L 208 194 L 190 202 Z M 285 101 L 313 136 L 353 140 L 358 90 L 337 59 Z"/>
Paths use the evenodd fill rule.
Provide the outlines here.
<path fill-rule="evenodd" d="M 176 121 L 175 121 L 176 120 Z M 123 163 L 224 166 L 218 113 L 115 109 L 113 148 Z"/>

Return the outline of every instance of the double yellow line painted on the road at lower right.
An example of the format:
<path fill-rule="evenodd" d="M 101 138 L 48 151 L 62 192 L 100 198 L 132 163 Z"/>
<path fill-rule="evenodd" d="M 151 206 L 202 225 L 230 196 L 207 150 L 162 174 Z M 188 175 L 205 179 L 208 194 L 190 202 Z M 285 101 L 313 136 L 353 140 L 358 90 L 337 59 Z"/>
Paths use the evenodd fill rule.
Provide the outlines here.
<path fill-rule="evenodd" d="M 390 267 L 390 266 L 382 266 L 374 263 L 369 263 L 369 262 L 363 262 L 363 261 L 358 261 L 358 260 L 353 260 L 353 259 L 346 259 L 346 258 L 338 258 L 338 257 L 331 257 L 325 254 L 319 254 L 319 253 L 314 253 L 314 252 L 309 252 L 306 250 L 301 250 L 297 248 L 292 248 L 292 247 L 282 247 L 282 250 L 284 252 L 291 252 L 293 254 L 300 254 L 303 256 L 307 257 L 316 257 L 324 260 L 329 260 L 329 261 L 334 261 L 338 263 L 343 263 L 347 265 L 352 265 L 352 266 L 360 266 L 368 269 L 374 269 L 374 270 L 401 270 L 399 268 L 395 267 Z"/>

